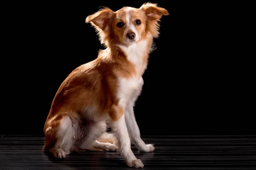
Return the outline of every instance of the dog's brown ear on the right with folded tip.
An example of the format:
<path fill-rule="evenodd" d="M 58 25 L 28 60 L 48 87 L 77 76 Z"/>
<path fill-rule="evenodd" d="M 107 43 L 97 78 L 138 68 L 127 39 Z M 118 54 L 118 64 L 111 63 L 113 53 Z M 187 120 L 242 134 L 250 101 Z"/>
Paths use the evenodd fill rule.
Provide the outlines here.
<path fill-rule="evenodd" d="M 165 8 L 160 8 L 154 3 L 144 3 L 140 9 L 142 9 L 148 20 L 158 21 L 163 15 L 169 15 L 169 12 Z"/>

